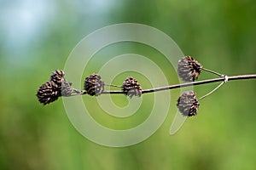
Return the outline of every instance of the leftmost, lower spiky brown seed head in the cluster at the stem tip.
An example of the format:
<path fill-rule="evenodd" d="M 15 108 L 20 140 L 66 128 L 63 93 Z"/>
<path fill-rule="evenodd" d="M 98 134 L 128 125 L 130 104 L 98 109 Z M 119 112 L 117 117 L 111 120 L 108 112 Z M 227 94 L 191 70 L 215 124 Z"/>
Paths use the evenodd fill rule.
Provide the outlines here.
<path fill-rule="evenodd" d="M 53 81 L 48 81 L 38 88 L 37 97 L 41 104 L 47 105 L 61 96 L 58 85 Z"/>

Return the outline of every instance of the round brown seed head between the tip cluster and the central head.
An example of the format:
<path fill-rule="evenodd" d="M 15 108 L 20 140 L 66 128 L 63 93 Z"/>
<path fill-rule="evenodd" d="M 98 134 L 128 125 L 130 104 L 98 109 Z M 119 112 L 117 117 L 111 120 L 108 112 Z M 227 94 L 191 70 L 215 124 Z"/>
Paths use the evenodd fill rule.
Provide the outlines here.
<path fill-rule="evenodd" d="M 91 74 L 84 80 L 84 90 L 91 96 L 98 96 L 104 91 L 104 82 L 102 77 L 96 73 Z"/>

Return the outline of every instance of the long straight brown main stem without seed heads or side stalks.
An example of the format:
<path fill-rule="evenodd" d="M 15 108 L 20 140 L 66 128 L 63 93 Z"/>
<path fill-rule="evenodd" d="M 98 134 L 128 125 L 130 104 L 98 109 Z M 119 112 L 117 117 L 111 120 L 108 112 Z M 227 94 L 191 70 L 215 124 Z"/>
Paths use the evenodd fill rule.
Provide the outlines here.
<path fill-rule="evenodd" d="M 154 92 L 164 91 L 164 90 L 169 90 L 169 89 L 174 89 L 174 88 L 197 86 L 200 84 L 207 84 L 207 83 L 212 83 L 212 82 L 224 82 L 227 80 L 233 81 L 233 80 L 243 80 L 243 79 L 253 79 L 253 78 L 256 78 L 256 74 L 254 74 L 254 75 L 239 75 L 239 76 L 232 76 L 232 77 L 219 77 L 219 78 L 213 78 L 213 79 L 208 79 L 208 80 L 202 80 L 202 81 L 198 81 L 198 82 L 185 82 L 182 84 L 175 84 L 175 85 L 166 86 L 166 87 L 144 89 L 142 91 L 142 93 L 148 94 L 148 93 L 154 93 Z M 84 94 L 84 93 L 82 93 L 82 94 Z M 125 94 L 125 93 L 122 91 L 114 90 L 114 91 L 103 91 L 102 94 Z"/>

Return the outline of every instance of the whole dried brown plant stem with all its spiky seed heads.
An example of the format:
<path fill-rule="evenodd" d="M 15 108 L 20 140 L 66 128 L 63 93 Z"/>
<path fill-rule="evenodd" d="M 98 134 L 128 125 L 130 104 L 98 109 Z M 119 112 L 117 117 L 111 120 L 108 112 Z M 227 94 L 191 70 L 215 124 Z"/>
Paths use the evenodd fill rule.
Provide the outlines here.
<path fill-rule="evenodd" d="M 218 78 L 195 82 L 195 80 L 197 80 L 201 75 L 202 71 L 215 74 L 218 76 Z M 41 104 L 47 105 L 51 102 L 54 102 L 59 97 L 69 97 L 73 95 L 89 94 L 91 96 L 99 96 L 101 94 L 125 94 L 126 96 L 132 98 L 133 96 L 140 97 L 142 94 L 154 93 L 174 88 L 183 88 L 193 85 L 195 86 L 212 82 L 221 82 L 216 88 L 212 89 L 211 92 L 201 96 L 199 99 L 195 98 L 196 94 L 194 91 L 184 92 L 177 99 L 177 108 L 180 113 L 183 114 L 183 116 L 195 116 L 200 105 L 199 101 L 215 92 L 224 83 L 232 80 L 256 78 L 255 74 L 228 77 L 216 71 L 208 70 L 191 56 L 184 56 L 182 59 L 179 59 L 177 64 L 177 74 L 184 81 L 184 83 L 160 88 L 142 89 L 140 84 L 133 77 L 127 77 L 121 86 L 117 86 L 103 82 L 100 75 L 93 73 L 89 77 L 85 77 L 84 90 L 78 90 L 72 87 L 72 82 L 67 82 L 65 79 L 64 71 L 56 70 L 50 76 L 49 81 L 45 82 L 38 88 L 37 97 Z M 121 89 L 105 91 L 104 86 L 112 86 Z"/>

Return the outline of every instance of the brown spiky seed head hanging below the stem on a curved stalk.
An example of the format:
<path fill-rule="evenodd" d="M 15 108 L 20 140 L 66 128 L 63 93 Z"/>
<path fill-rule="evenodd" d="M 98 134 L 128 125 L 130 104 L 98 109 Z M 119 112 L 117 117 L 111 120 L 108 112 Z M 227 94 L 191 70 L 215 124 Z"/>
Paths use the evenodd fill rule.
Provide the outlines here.
<path fill-rule="evenodd" d="M 183 116 L 195 116 L 197 114 L 199 102 L 195 96 L 195 92 L 188 91 L 177 99 L 177 108 Z"/>

